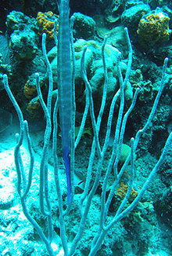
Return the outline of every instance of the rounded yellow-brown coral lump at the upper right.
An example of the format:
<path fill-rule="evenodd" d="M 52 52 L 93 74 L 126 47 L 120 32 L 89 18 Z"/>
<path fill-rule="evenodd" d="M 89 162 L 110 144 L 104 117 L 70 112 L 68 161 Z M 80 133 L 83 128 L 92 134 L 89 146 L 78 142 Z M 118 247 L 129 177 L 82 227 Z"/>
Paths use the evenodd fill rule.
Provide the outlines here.
<path fill-rule="evenodd" d="M 157 8 L 152 12 L 142 16 L 138 24 L 138 41 L 142 46 L 154 46 L 157 42 L 169 40 L 170 18 L 161 9 Z"/>

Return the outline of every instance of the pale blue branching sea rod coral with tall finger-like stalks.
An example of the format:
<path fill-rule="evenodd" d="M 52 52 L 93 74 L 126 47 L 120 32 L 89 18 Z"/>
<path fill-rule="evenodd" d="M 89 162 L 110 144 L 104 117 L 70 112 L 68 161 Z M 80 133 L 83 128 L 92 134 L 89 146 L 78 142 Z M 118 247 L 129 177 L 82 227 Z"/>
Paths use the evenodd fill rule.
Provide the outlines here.
<path fill-rule="evenodd" d="M 64 7 L 69 5 L 68 0 L 62 0 L 61 5 L 60 5 L 60 10 L 61 10 L 61 15 L 63 14 Z M 69 6 L 68 6 L 69 7 Z M 60 18 L 59 18 L 60 20 Z M 72 22 L 71 22 L 72 23 Z M 59 33 L 60 33 L 60 26 L 63 26 L 63 24 L 60 24 L 59 22 Z M 63 28 L 63 27 L 62 27 Z M 71 33 L 71 27 L 67 28 L 68 31 Z M 55 22 L 55 38 L 56 38 L 56 22 Z M 69 34 L 68 34 L 69 35 Z M 7 91 L 10 100 L 13 102 L 14 107 L 16 108 L 16 112 L 18 114 L 19 120 L 20 120 L 20 134 L 16 136 L 16 148 L 15 148 L 15 163 L 16 163 L 16 171 L 18 175 L 18 184 L 17 184 L 17 191 L 20 195 L 20 200 L 21 204 L 23 207 L 23 213 L 26 215 L 27 219 L 30 221 L 30 223 L 34 226 L 34 229 L 38 232 L 38 235 L 41 237 L 41 240 L 45 243 L 45 246 L 47 248 L 48 254 L 50 256 L 56 255 L 59 253 L 59 251 L 54 249 L 54 240 L 53 240 L 53 224 L 52 224 L 52 207 L 50 203 L 50 195 L 49 195 L 49 190 L 48 190 L 48 147 L 50 145 L 50 137 L 52 133 L 52 152 L 53 152 L 53 160 L 54 160 L 54 175 L 55 175 L 55 184 L 56 184 L 56 192 L 57 192 L 57 198 L 58 198 L 58 209 L 59 209 L 59 227 L 60 227 L 60 238 L 61 238 L 61 243 L 63 247 L 64 254 L 66 256 L 73 255 L 77 252 L 79 244 L 82 241 L 82 236 L 84 236 L 84 230 L 87 229 L 86 226 L 86 221 L 88 218 L 88 212 L 91 209 L 91 205 L 96 197 L 95 192 L 99 186 L 99 181 L 102 175 L 102 166 L 103 162 L 105 160 L 105 154 L 108 148 L 109 144 L 109 137 L 110 137 L 110 130 L 112 126 L 112 119 L 113 119 L 113 111 L 116 105 L 116 101 L 120 100 L 120 108 L 119 108 L 119 113 L 118 113 L 118 118 L 117 118 L 117 123 L 116 123 L 116 130 L 115 130 L 115 135 L 114 135 L 114 142 L 113 142 L 113 150 L 109 159 L 109 163 L 106 166 L 106 174 L 104 177 L 104 181 L 102 184 L 102 193 L 100 196 L 100 204 L 99 204 L 99 215 L 97 216 L 98 224 L 96 226 L 96 232 L 93 234 L 94 238 L 91 243 L 91 247 L 89 248 L 88 255 L 93 256 L 95 255 L 101 245 L 102 241 L 108 234 L 109 230 L 113 228 L 116 223 L 118 223 L 121 219 L 126 217 L 128 213 L 130 213 L 134 207 L 137 206 L 138 202 L 142 198 L 145 190 L 148 188 L 150 182 L 152 181 L 154 175 L 156 172 L 159 170 L 159 166 L 163 163 L 163 160 L 165 158 L 165 155 L 169 151 L 170 145 L 172 143 L 172 133 L 170 133 L 170 136 L 167 139 L 167 142 L 163 148 L 163 152 L 156 163 L 156 166 L 152 169 L 151 173 L 149 174 L 149 177 L 146 179 L 144 185 L 142 186 L 141 190 L 138 192 L 138 196 L 134 198 L 131 204 L 127 204 L 128 199 L 131 195 L 132 192 L 132 187 L 133 187 L 133 181 L 134 181 L 134 154 L 136 152 L 136 149 L 138 147 L 138 142 L 140 140 L 140 137 L 142 134 L 145 134 L 145 131 L 149 128 L 149 125 L 152 121 L 153 115 L 156 112 L 157 105 L 159 103 L 159 97 L 161 96 L 163 92 L 163 86 L 165 82 L 165 75 L 166 75 L 166 70 L 167 70 L 167 59 L 164 60 L 163 64 L 163 75 L 161 79 L 161 85 L 159 87 L 159 92 L 156 95 L 156 99 L 154 101 L 154 104 L 152 105 L 152 111 L 149 114 L 149 117 L 147 121 L 145 122 L 145 125 L 143 126 L 142 130 L 138 130 L 138 132 L 135 135 L 135 138 L 131 138 L 131 153 L 128 155 L 124 165 L 120 170 L 118 170 L 118 163 L 120 159 L 120 154 L 121 154 L 121 148 L 122 144 L 124 141 L 124 132 L 127 124 L 127 118 L 131 114 L 131 111 L 134 108 L 134 105 L 136 103 L 136 99 L 139 93 L 139 90 L 137 89 L 134 93 L 133 101 L 131 102 L 130 108 L 128 108 L 127 112 L 124 114 L 124 88 L 127 86 L 127 82 L 129 79 L 129 75 L 131 72 L 131 63 L 132 63 L 132 47 L 131 47 L 131 42 L 130 38 L 127 32 L 127 28 L 125 28 L 125 35 L 127 39 L 127 46 L 129 49 L 129 56 L 128 56 L 128 63 L 127 63 L 127 71 L 125 78 L 122 75 L 121 68 L 120 68 L 120 57 L 121 53 L 118 53 L 117 61 L 116 61 L 116 67 L 118 71 L 118 76 L 119 76 L 119 81 L 120 81 L 120 90 L 117 91 L 117 93 L 113 96 L 113 101 L 110 104 L 109 108 L 109 116 L 107 119 L 107 130 L 106 130 L 106 137 L 103 142 L 103 144 L 100 143 L 99 141 L 99 130 L 100 130 L 100 125 L 102 121 L 102 114 L 104 112 L 105 104 L 106 104 L 106 92 L 107 92 L 107 86 L 108 86 L 108 75 L 107 75 L 107 70 L 106 70 L 106 59 L 105 59 L 105 53 L 104 49 L 106 46 L 106 38 L 104 39 L 102 43 L 102 62 L 103 62 L 103 68 L 104 68 L 104 74 L 105 74 L 105 81 L 104 81 L 104 88 L 103 88 L 103 93 L 102 93 L 102 103 L 99 109 L 99 114 L 97 119 L 95 119 L 95 112 L 94 112 L 94 102 L 93 102 L 93 97 L 91 93 L 91 85 L 90 82 L 88 81 L 88 77 L 85 71 L 85 65 L 84 65 L 84 60 L 85 60 L 85 53 L 87 51 L 87 47 L 84 48 L 82 58 L 81 58 L 81 71 L 83 75 L 83 79 L 85 82 L 86 90 L 85 90 L 85 97 L 86 97 L 86 104 L 85 104 L 85 109 L 84 109 L 84 115 L 83 119 L 81 121 L 81 130 L 79 131 L 77 135 L 76 141 L 74 141 L 74 126 L 75 126 L 75 101 L 74 101 L 74 93 L 75 93 L 75 88 L 74 88 L 74 82 L 73 82 L 73 77 L 71 79 L 71 123 L 70 123 L 70 148 L 68 151 L 67 159 L 70 160 L 70 190 L 68 189 L 68 196 L 69 200 L 68 203 L 66 203 L 66 200 L 63 199 L 63 188 L 61 186 L 61 182 L 59 179 L 59 169 L 60 166 L 58 166 L 58 157 L 57 157 L 57 112 L 59 108 L 59 104 L 61 103 L 59 101 L 59 95 L 56 98 L 56 104 L 53 110 L 53 116 L 51 115 L 51 108 L 52 108 L 52 70 L 51 70 L 51 65 L 48 62 L 48 57 L 47 53 L 45 50 L 45 38 L 46 35 L 43 34 L 42 36 L 42 50 L 43 50 L 43 55 L 45 57 L 45 62 L 47 64 L 48 68 L 48 79 L 49 79 L 49 89 L 48 89 L 48 99 L 47 103 L 45 104 L 45 101 L 43 100 L 42 93 L 41 93 L 41 88 L 40 88 L 40 82 L 39 82 L 39 75 L 38 73 L 35 75 L 36 76 L 36 81 L 37 81 L 37 91 L 38 91 L 38 97 L 41 103 L 41 107 L 43 108 L 45 112 L 45 119 L 46 119 L 46 127 L 45 127 L 45 137 L 44 137 L 44 145 L 43 145 L 43 150 L 42 150 L 42 155 L 41 155 L 41 161 L 40 161 L 40 191 L 39 191 L 39 196 L 40 196 L 40 209 L 41 209 L 41 214 L 44 215 L 45 219 L 47 220 L 47 229 L 48 229 L 48 236 L 46 233 L 43 232 L 43 229 L 41 225 L 38 225 L 37 221 L 34 220 L 34 218 L 31 216 L 27 209 L 27 196 L 28 192 L 30 191 L 30 185 L 32 183 L 32 175 L 33 175 L 33 170 L 34 170 L 34 152 L 33 148 L 31 146 L 31 141 L 30 141 L 30 133 L 28 130 L 28 125 L 27 121 L 23 119 L 23 114 L 20 110 L 19 105 L 17 104 L 15 98 L 13 97 L 13 94 L 11 90 L 9 89 L 9 84 L 8 84 L 8 78 L 7 75 L 3 76 L 4 79 L 4 86 L 5 90 Z M 70 38 L 70 41 L 66 42 L 72 45 L 72 53 L 73 53 L 73 42 L 72 39 Z M 63 52 L 63 46 L 59 47 L 60 50 Z M 59 53 L 59 56 L 60 54 Z M 74 56 L 74 54 L 73 54 Z M 69 56 L 65 56 L 67 64 L 70 63 L 70 54 Z M 65 59 L 64 58 L 64 59 Z M 62 64 L 62 63 L 60 63 Z M 65 63 L 63 63 L 65 64 Z M 65 66 L 66 67 L 66 66 Z M 64 67 L 64 68 L 65 68 Z M 68 65 L 69 68 L 69 65 Z M 70 67 L 71 68 L 71 67 Z M 73 58 L 73 68 L 74 68 L 74 58 Z M 72 73 L 73 74 L 73 73 Z M 60 79 L 64 79 L 65 77 L 60 77 Z M 59 94 L 59 93 L 58 93 Z M 69 104 L 70 105 L 70 104 Z M 63 108 L 63 105 L 60 106 Z M 84 124 L 86 117 L 88 115 L 88 110 L 91 115 L 91 124 L 92 124 L 92 130 L 94 133 L 94 138 L 91 144 L 91 153 L 90 157 L 88 159 L 88 170 L 87 170 L 87 177 L 86 181 L 84 184 L 84 192 L 81 194 L 79 198 L 79 203 L 77 202 L 77 212 L 79 213 L 80 220 L 78 220 L 78 229 L 73 237 L 73 240 L 71 241 L 68 237 L 68 233 L 66 232 L 67 230 L 67 225 L 68 223 L 66 222 L 66 216 L 73 220 L 74 216 L 73 214 L 73 204 L 75 203 L 76 206 L 76 199 L 78 197 L 74 195 L 74 188 L 73 188 L 73 174 L 74 174 L 74 157 L 75 157 L 75 149 L 77 148 L 80 139 L 81 139 L 81 133 L 84 129 Z M 65 117 L 63 117 L 65 118 Z M 52 123 L 53 123 L 53 129 L 52 129 Z M 26 181 L 24 175 L 23 175 L 23 164 L 22 164 L 22 157 L 20 154 L 20 147 L 23 144 L 23 137 L 24 133 L 26 134 L 27 137 L 27 144 L 28 148 L 30 151 L 30 170 L 28 172 L 28 180 Z M 65 134 L 63 135 L 65 136 Z M 93 169 L 93 163 L 95 163 L 96 158 L 95 154 L 98 155 L 98 160 L 97 160 L 97 166 L 96 166 L 96 172 L 95 172 L 95 177 L 91 177 L 92 174 L 92 169 Z M 120 180 L 121 177 L 124 174 L 124 171 L 126 170 L 126 167 L 131 163 L 131 174 L 130 178 L 128 180 L 128 186 L 127 186 L 127 192 L 124 196 L 124 199 L 120 203 L 120 207 L 114 214 L 113 218 L 108 218 L 108 212 L 109 212 L 109 206 L 110 203 L 112 202 L 113 195 L 116 191 L 116 188 L 118 185 L 120 185 Z M 68 170 L 69 171 L 69 170 Z M 114 180 L 113 180 L 113 185 L 110 188 L 109 194 L 107 195 L 106 193 L 106 188 L 108 185 L 109 181 L 109 175 L 111 172 L 114 172 Z M 68 174 L 69 175 L 69 174 Z M 69 195 L 70 193 L 70 195 Z M 74 209 L 75 210 L 75 209 Z M 74 229 L 74 227 L 73 227 Z M 70 240 L 70 241 L 69 241 Z M 52 243 L 53 241 L 53 243 Z"/>

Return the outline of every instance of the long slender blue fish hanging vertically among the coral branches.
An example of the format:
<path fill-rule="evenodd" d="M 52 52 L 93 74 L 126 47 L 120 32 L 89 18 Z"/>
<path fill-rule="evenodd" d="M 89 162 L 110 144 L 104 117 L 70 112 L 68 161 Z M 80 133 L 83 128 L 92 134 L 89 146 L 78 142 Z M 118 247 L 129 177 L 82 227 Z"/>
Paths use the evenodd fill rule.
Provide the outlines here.
<path fill-rule="evenodd" d="M 70 178 L 70 130 L 72 114 L 72 72 L 70 62 L 70 0 L 59 1 L 59 34 L 58 34 L 58 90 L 59 119 L 62 133 L 63 160 L 66 168 L 67 202 L 71 202 Z"/>

